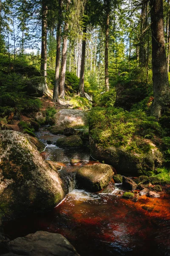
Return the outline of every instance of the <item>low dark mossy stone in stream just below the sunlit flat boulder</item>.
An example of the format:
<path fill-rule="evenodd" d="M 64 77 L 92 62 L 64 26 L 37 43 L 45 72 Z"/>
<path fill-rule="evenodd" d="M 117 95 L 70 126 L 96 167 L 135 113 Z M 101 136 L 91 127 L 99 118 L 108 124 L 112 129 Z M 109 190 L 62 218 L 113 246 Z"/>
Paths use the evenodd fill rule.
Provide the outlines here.
<path fill-rule="evenodd" d="M 56 145 L 61 148 L 79 148 L 82 147 L 82 139 L 78 135 L 63 137 L 56 141 Z"/>

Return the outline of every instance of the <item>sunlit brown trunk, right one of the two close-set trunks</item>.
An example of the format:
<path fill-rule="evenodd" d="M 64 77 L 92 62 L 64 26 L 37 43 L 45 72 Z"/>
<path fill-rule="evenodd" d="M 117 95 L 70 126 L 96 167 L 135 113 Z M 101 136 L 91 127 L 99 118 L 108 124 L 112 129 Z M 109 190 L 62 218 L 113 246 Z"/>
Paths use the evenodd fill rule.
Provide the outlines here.
<path fill-rule="evenodd" d="M 68 11 L 70 1 L 67 1 L 66 13 Z M 64 99 L 65 96 L 65 72 L 66 72 L 66 61 L 67 61 L 67 33 L 68 33 L 68 21 L 65 22 L 64 26 L 64 36 L 62 44 L 62 60 L 61 60 L 61 71 L 60 71 L 60 81 L 59 81 L 59 96 Z"/>

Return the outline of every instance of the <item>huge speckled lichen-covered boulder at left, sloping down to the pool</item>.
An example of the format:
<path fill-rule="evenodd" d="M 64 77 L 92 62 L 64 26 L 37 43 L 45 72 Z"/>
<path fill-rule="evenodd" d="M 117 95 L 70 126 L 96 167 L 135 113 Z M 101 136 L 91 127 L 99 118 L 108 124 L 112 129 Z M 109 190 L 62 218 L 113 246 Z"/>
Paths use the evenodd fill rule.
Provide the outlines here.
<path fill-rule="evenodd" d="M 0 131 L 0 215 L 52 209 L 65 197 L 63 188 L 57 169 L 42 159 L 29 135 Z"/>

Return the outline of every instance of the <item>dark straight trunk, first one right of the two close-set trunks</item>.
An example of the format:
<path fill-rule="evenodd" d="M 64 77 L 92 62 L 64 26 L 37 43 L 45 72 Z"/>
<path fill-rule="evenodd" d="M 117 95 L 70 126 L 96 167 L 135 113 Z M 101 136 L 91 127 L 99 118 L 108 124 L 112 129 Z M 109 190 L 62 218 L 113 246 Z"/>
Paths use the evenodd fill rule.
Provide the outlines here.
<path fill-rule="evenodd" d="M 79 81 L 79 95 L 84 96 L 84 80 L 85 80 L 85 46 L 86 46 L 86 25 L 83 29 L 83 39 L 82 39 L 82 60 L 81 60 L 81 70 L 80 70 L 80 81 Z"/>

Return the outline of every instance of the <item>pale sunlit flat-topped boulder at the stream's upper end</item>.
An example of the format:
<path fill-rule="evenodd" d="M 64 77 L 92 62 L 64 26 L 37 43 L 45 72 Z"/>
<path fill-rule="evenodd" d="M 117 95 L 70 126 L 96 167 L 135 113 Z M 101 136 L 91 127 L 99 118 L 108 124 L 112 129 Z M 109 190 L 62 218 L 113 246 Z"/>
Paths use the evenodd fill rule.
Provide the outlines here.
<path fill-rule="evenodd" d="M 85 111 L 78 109 L 60 109 L 54 120 L 55 125 L 50 128 L 54 134 L 62 134 L 65 128 L 82 128 L 88 124 Z"/>

